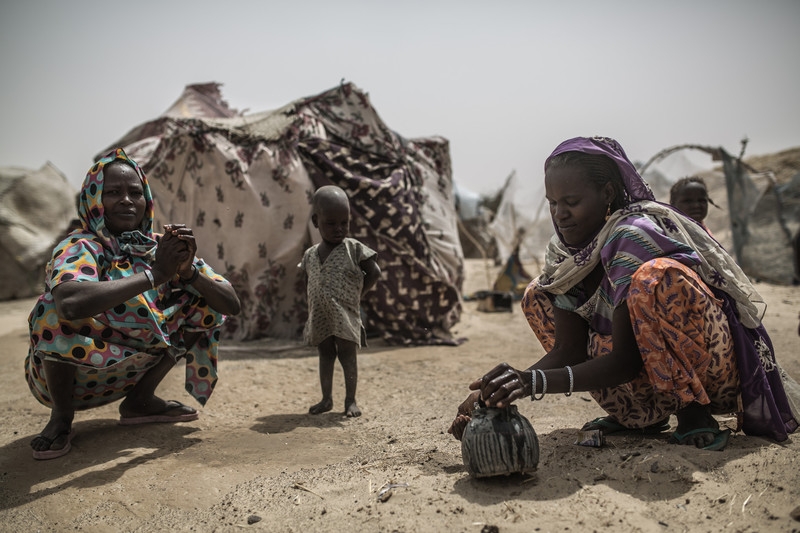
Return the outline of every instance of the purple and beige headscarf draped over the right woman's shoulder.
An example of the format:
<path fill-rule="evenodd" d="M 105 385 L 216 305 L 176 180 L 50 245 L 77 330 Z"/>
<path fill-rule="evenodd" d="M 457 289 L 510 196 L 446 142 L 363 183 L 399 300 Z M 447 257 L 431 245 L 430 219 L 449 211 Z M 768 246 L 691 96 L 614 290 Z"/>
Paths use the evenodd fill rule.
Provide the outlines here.
<path fill-rule="evenodd" d="M 583 280 L 600 261 L 600 250 L 614 227 L 624 218 L 638 213 L 657 220 L 667 228 L 668 236 L 689 245 L 700 258 L 698 273 L 703 280 L 728 293 L 737 304 L 741 321 L 754 328 L 764 316 L 766 303 L 750 283 L 747 275 L 736 261 L 693 220 L 681 215 L 670 206 L 655 201 L 650 186 L 639 175 L 622 146 L 608 137 L 575 137 L 559 144 L 547 158 L 547 163 L 564 152 L 582 152 L 603 155 L 612 159 L 622 174 L 625 194 L 631 203 L 617 210 L 606 221 L 603 228 L 581 250 L 572 250 L 553 235 L 545 252 L 545 266 L 536 283 L 552 294 L 565 294 Z"/>

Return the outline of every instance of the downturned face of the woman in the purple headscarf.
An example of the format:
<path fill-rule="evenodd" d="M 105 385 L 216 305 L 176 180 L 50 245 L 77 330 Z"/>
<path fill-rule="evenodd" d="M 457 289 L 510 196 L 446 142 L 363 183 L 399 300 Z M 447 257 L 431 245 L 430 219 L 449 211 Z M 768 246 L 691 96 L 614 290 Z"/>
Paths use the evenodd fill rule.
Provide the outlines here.
<path fill-rule="evenodd" d="M 550 217 L 566 244 L 584 245 L 603 227 L 613 199 L 607 189 L 598 190 L 586 171 L 577 166 L 550 168 L 545 172 L 544 190 Z"/>

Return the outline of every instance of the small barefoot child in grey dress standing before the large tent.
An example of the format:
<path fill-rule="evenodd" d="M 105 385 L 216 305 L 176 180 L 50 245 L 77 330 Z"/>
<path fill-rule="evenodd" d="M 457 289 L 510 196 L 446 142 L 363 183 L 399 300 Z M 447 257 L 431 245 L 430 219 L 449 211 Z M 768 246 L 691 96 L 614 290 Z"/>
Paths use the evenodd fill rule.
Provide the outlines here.
<path fill-rule="evenodd" d="M 306 272 L 308 321 L 303 337 L 319 351 L 319 380 L 322 401 L 312 405 L 311 414 L 333 409 L 333 368 L 336 358 L 344 371 L 344 413 L 361 416 L 356 404 L 358 348 L 366 345 L 361 323 L 361 297 L 378 281 L 381 269 L 377 253 L 347 237 L 350 230 L 350 201 L 340 187 L 320 187 L 311 200 L 311 221 L 322 242 L 306 250 L 300 268 Z"/>

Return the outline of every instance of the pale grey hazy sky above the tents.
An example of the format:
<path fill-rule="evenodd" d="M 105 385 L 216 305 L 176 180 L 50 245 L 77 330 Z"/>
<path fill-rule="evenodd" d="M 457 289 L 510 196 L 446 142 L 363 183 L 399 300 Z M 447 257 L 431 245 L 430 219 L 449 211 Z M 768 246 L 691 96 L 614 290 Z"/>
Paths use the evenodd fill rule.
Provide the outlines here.
<path fill-rule="evenodd" d="M 237 109 L 345 79 L 404 137 L 450 141 L 492 192 L 578 135 L 632 159 L 677 144 L 800 146 L 800 1 L 0 0 L 0 166 L 80 184 L 191 83 Z M 710 164 L 710 163 L 709 163 Z"/>

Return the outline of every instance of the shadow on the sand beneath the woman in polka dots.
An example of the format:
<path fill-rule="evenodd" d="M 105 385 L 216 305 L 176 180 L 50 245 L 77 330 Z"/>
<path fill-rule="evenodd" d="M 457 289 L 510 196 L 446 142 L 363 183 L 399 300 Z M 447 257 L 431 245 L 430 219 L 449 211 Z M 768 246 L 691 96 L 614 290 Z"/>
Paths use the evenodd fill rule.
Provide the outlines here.
<path fill-rule="evenodd" d="M 30 503 L 70 487 L 108 485 L 138 465 L 174 455 L 200 442 L 191 437 L 198 428 L 185 424 L 120 426 L 117 420 L 94 419 L 75 422 L 72 431 L 72 450 L 57 459 L 34 459 L 29 444 L 33 435 L 0 448 L 0 509 Z M 136 448 L 148 451 L 137 454 Z M 37 485 L 46 488 L 33 491 Z"/>

